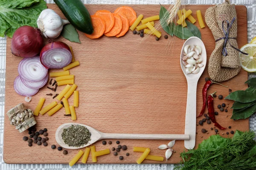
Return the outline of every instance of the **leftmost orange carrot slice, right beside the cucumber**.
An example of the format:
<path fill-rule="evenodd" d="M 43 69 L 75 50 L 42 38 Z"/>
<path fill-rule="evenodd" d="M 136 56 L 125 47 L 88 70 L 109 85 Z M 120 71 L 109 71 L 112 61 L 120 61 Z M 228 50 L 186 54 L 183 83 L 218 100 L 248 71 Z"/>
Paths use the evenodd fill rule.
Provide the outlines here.
<path fill-rule="evenodd" d="M 93 34 L 85 34 L 86 37 L 90 39 L 96 39 L 101 37 L 106 29 L 106 24 L 104 20 L 102 20 L 100 17 L 92 15 L 91 16 L 92 23 L 93 23 Z"/>

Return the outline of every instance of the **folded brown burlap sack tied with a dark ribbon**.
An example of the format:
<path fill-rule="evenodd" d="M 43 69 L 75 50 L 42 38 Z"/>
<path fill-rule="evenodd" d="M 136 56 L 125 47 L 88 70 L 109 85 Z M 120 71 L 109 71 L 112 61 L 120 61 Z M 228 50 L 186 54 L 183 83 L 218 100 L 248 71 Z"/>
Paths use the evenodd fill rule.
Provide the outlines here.
<path fill-rule="evenodd" d="M 215 40 L 218 40 L 221 37 L 225 37 L 222 28 L 222 21 L 227 20 L 229 23 L 231 23 L 234 17 L 236 17 L 235 5 L 230 4 L 229 0 L 226 0 L 226 2 L 220 5 L 212 6 L 207 9 L 205 13 L 205 22 L 211 29 Z M 227 30 L 226 22 L 224 22 L 224 30 Z M 230 28 L 228 37 L 236 38 L 236 36 L 237 17 Z M 233 45 L 235 48 L 238 48 L 236 39 L 232 38 L 229 38 L 231 45 Z M 222 54 L 224 41 L 225 40 L 222 39 L 215 42 L 215 49 L 212 52 L 208 63 L 209 76 L 216 82 L 222 82 L 231 79 L 239 73 L 241 68 L 239 63 L 239 52 L 235 48 L 232 48 L 229 42 L 226 44 L 227 56 Z"/>

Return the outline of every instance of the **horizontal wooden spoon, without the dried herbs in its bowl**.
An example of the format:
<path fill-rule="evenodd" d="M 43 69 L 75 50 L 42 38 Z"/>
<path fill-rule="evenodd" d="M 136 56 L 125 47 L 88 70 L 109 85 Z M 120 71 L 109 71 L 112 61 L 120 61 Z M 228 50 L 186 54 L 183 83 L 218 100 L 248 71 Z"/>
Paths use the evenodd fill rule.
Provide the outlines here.
<path fill-rule="evenodd" d="M 71 125 L 81 125 L 86 127 L 90 133 L 91 133 L 91 140 L 88 144 L 84 144 L 80 147 L 70 147 L 67 144 L 64 143 L 61 137 L 61 133 L 63 130 L 67 127 L 70 127 Z M 65 123 L 63 125 L 60 125 L 55 133 L 56 141 L 58 142 L 61 147 L 67 148 L 67 149 L 78 149 L 82 147 L 87 147 L 90 144 L 93 144 L 101 139 L 161 139 L 161 140 L 189 140 L 189 135 L 184 134 L 125 134 L 125 133 L 102 133 L 93 127 L 83 125 L 80 123 Z"/>

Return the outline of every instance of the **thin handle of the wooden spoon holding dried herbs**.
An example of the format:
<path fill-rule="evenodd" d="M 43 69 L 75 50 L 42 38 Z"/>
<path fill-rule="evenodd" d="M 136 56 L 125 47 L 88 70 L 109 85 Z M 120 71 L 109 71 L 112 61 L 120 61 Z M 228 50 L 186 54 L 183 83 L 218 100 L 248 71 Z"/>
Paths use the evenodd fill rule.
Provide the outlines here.
<path fill-rule="evenodd" d="M 184 135 L 184 134 L 101 133 L 101 139 L 189 140 L 189 135 Z"/>

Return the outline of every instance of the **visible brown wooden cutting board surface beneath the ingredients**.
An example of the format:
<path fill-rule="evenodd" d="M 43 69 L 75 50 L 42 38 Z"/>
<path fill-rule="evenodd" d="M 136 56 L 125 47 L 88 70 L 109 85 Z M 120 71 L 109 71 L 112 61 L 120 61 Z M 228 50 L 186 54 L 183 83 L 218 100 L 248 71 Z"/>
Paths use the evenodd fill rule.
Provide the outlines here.
<path fill-rule="evenodd" d="M 47 5 L 52 8 L 61 17 L 64 15 L 57 6 Z M 86 5 L 90 14 L 97 10 L 106 9 L 111 12 L 115 11 L 121 5 Z M 137 12 L 137 15 L 143 14 L 144 17 L 159 14 L 160 5 L 131 5 Z M 168 6 L 166 6 L 168 8 Z M 187 5 L 186 9 L 194 11 L 193 16 L 196 18 L 195 11 L 200 9 L 203 16 L 210 6 Z M 247 9 L 245 6 L 236 6 L 238 16 L 238 44 L 239 47 L 247 43 Z M 198 22 L 195 23 L 198 26 Z M 199 26 L 198 26 L 199 28 Z M 163 32 L 163 30 L 160 30 Z M 215 42 L 209 28 L 200 29 L 202 40 L 206 46 L 207 58 L 212 53 Z M 4 122 L 4 147 L 3 160 L 6 163 L 16 164 L 47 164 L 47 163 L 68 163 L 79 150 L 68 150 L 68 155 L 63 155 L 57 149 L 52 150 L 51 145 L 56 144 L 55 130 L 63 123 L 77 122 L 96 128 L 105 133 L 175 133 L 183 134 L 185 126 L 186 112 L 186 95 L 187 84 L 186 78 L 180 68 L 180 49 L 183 40 L 175 38 L 172 45 L 164 47 L 170 42 L 163 37 L 159 41 L 155 37 L 149 37 L 141 42 L 139 35 L 132 34 L 131 31 L 121 38 L 102 37 L 98 40 L 90 40 L 79 32 L 81 44 L 72 43 L 64 38 L 58 40 L 66 42 L 73 47 L 76 60 L 79 60 L 80 66 L 70 70 L 70 74 L 75 75 L 75 83 L 78 85 L 80 102 L 79 108 L 76 109 L 77 120 L 72 121 L 70 117 L 63 116 L 65 111 L 60 111 L 49 117 L 36 116 L 37 129 L 44 127 L 48 129 L 49 141 L 48 146 L 38 146 L 33 144 L 29 147 L 27 142 L 22 140 L 23 136 L 28 136 L 27 131 L 19 133 L 15 127 L 10 125 L 8 116 L 5 116 Z M 25 102 L 23 96 L 19 96 L 13 89 L 13 82 L 17 77 L 17 65 L 20 57 L 15 57 L 11 53 L 11 39 L 7 39 L 6 55 L 6 95 L 5 95 L 5 112 L 20 102 Z M 207 61 L 208 62 L 208 61 Z M 52 70 L 51 70 L 52 71 Z M 207 68 L 198 82 L 197 89 L 197 113 L 202 107 L 202 87 L 204 77 L 207 77 Z M 233 91 L 245 89 L 247 85 L 247 72 L 241 70 L 239 75 L 224 82 Z M 64 87 L 58 88 L 59 93 Z M 209 93 L 217 91 L 217 95 L 228 95 L 228 88 L 219 85 L 212 85 Z M 33 96 L 32 101 L 25 103 L 28 108 L 35 109 L 40 97 L 45 97 L 44 106 L 52 101 L 49 89 L 41 88 L 38 94 Z M 73 103 L 73 96 L 68 99 L 70 104 Z M 225 102 L 233 104 L 231 101 L 219 100 L 215 98 L 215 109 L 217 105 Z M 233 121 L 230 119 L 232 110 L 228 112 L 219 112 L 216 116 L 217 121 L 224 127 L 232 126 L 231 130 L 248 130 L 249 119 Z M 228 117 L 226 117 L 228 116 Z M 198 118 L 197 121 L 201 120 Z M 209 134 L 201 133 L 201 126 L 197 126 L 196 146 L 214 134 L 210 130 L 213 125 L 204 124 Z M 220 134 L 227 130 L 220 130 Z M 202 136 L 202 137 L 201 137 Z M 232 135 L 230 135 L 232 136 Z M 109 140 L 107 140 L 108 142 Z M 96 150 L 102 150 L 117 147 L 116 140 L 111 140 L 113 144 L 102 145 L 102 141 L 97 142 Z M 134 153 L 133 146 L 149 147 L 151 154 L 164 156 L 165 150 L 158 150 L 160 144 L 168 144 L 169 141 L 161 140 L 120 140 L 120 144 L 127 145 L 128 150 L 119 152 L 119 156 L 124 156 L 120 161 L 119 156 L 110 155 L 101 156 L 97 163 L 136 163 L 136 160 L 142 153 Z M 58 145 L 57 145 L 58 147 Z M 145 160 L 143 163 L 178 163 L 180 161 L 180 152 L 184 150 L 184 142 L 177 141 L 173 147 L 176 153 L 168 161 L 156 162 Z M 125 156 L 125 153 L 130 156 Z M 81 161 L 79 161 L 81 162 Z M 89 156 L 88 163 L 91 163 Z"/>

